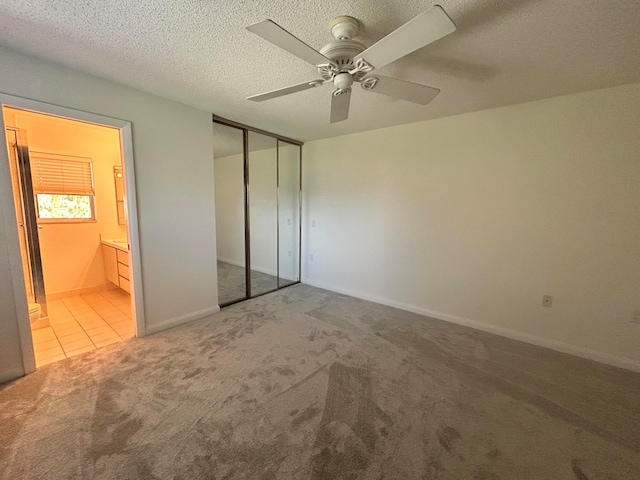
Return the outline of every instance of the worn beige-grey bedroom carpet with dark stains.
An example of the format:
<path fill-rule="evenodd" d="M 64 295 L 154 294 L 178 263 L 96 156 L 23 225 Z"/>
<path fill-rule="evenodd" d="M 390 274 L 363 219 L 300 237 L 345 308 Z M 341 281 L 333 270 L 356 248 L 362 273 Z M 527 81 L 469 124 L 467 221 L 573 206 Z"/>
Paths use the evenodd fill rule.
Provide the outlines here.
<path fill-rule="evenodd" d="M 3 479 L 637 479 L 640 375 L 295 285 L 0 387 Z"/>

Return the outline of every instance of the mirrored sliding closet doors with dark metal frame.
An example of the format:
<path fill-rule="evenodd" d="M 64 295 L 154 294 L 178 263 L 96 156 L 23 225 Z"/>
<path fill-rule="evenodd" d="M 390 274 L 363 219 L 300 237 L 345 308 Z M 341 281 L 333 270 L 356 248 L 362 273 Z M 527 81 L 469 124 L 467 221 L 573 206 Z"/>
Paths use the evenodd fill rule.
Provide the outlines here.
<path fill-rule="evenodd" d="M 214 116 L 218 302 L 300 281 L 302 143 Z"/>

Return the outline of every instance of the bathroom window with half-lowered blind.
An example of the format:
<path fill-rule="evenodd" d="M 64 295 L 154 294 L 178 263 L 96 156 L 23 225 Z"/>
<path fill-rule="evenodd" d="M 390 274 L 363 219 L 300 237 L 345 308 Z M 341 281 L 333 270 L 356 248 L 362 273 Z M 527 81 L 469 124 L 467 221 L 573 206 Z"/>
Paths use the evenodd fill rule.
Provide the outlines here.
<path fill-rule="evenodd" d="M 31 180 L 39 220 L 95 221 L 90 159 L 32 152 Z"/>

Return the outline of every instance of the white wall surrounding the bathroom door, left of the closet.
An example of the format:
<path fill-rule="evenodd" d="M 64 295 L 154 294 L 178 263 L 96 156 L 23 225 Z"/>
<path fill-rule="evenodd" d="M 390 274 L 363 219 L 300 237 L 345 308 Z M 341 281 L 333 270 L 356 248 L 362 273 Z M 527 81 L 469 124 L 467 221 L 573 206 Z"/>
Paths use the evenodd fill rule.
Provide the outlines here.
<path fill-rule="evenodd" d="M 147 331 L 216 311 L 211 113 L 4 48 L 0 64 L 0 92 L 132 122 Z M 0 258 L 7 236 L 17 234 L 2 225 Z M 0 284 L 11 282 L 0 269 Z M 0 351 L 12 352 L 0 371 L 14 371 L 15 305 L 0 301 Z"/>

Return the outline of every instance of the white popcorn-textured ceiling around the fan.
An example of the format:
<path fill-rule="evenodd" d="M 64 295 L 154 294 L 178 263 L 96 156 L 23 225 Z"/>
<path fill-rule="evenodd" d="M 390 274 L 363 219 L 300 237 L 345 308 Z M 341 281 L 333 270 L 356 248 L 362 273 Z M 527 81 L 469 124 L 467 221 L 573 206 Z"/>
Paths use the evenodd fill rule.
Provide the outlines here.
<path fill-rule="evenodd" d="M 300 140 L 640 82 L 638 0 L 442 0 L 458 30 L 384 75 L 438 87 L 422 107 L 354 88 L 329 124 L 329 86 L 245 97 L 317 78 L 245 27 L 271 18 L 309 45 L 338 15 L 367 45 L 426 10 L 407 0 L 0 0 L 0 44 Z"/>

